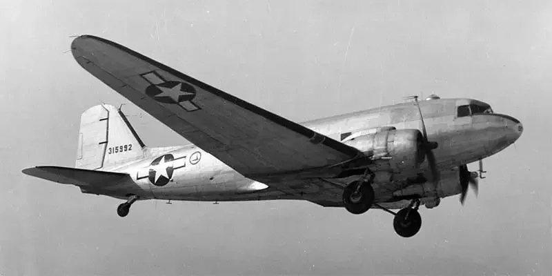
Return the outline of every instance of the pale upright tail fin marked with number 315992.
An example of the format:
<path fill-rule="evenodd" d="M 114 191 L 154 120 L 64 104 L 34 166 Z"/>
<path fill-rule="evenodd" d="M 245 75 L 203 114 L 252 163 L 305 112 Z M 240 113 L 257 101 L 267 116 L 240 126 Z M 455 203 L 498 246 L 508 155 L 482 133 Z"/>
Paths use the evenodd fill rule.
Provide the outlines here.
<path fill-rule="evenodd" d="M 81 115 L 77 168 L 97 170 L 144 157 L 144 143 L 121 110 L 108 104 Z"/>

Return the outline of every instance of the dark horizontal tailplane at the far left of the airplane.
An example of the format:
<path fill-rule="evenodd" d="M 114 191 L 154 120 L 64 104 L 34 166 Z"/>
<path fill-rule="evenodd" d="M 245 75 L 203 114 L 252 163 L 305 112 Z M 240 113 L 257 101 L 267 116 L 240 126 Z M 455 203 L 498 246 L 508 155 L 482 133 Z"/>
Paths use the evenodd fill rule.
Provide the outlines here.
<path fill-rule="evenodd" d="M 81 187 L 102 186 L 106 188 L 121 181 L 131 180 L 130 175 L 119 172 L 102 172 L 57 166 L 37 166 L 22 170 L 26 175 L 38 177 L 61 184 L 73 184 Z"/>

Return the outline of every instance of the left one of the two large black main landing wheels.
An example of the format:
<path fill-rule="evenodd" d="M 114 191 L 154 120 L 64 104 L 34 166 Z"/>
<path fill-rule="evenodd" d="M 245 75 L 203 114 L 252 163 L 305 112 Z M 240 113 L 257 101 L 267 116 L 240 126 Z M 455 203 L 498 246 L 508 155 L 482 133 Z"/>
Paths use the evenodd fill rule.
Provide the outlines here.
<path fill-rule="evenodd" d="M 359 185 L 360 188 L 357 190 Z M 374 203 L 374 189 L 367 182 L 355 181 L 343 191 L 343 203 L 349 212 L 355 215 L 362 214 Z"/>

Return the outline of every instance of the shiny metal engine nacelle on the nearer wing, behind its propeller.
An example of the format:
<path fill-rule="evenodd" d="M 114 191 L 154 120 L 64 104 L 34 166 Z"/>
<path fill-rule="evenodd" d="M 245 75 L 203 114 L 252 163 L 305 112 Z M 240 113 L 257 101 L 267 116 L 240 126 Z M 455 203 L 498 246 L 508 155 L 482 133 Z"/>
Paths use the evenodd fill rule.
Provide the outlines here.
<path fill-rule="evenodd" d="M 367 135 L 351 135 L 344 144 L 373 156 L 378 163 L 386 162 L 391 170 L 419 168 L 424 161 L 423 136 L 420 130 L 391 128 Z"/>

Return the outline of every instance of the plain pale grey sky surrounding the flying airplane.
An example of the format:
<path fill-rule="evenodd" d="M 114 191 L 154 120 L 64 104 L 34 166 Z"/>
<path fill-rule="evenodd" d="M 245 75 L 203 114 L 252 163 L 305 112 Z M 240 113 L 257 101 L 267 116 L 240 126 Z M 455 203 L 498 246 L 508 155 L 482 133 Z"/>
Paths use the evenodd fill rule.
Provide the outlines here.
<path fill-rule="evenodd" d="M 2 275 L 549 275 L 550 1 L 4 1 L 0 9 Z M 33 179 L 74 166 L 101 101 L 149 146 L 185 141 L 88 75 L 71 35 L 112 39 L 294 121 L 406 95 L 470 97 L 524 124 L 486 159 L 479 197 L 422 208 L 398 237 L 379 210 L 302 201 L 121 201 Z M 471 166 L 475 169 L 475 166 Z"/>

